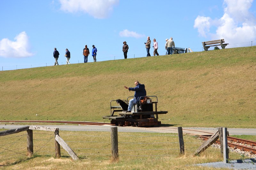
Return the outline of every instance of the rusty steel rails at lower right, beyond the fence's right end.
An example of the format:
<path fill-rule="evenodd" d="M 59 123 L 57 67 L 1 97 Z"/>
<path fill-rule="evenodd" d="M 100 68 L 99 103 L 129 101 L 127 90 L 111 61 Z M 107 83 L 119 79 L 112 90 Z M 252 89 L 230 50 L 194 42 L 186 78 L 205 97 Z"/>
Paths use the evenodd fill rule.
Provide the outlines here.
<path fill-rule="evenodd" d="M 200 137 L 203 138 L 204 140 L 207 140 L 207 139 L 210 138 L 208 136 L 202 136 L 202 135 L 200 135 Z M 236 138 L 236 139 L 239 139 L 239 138 Z M 228 141 L 232 141 L 232 140 L 234 140 L 234 137 L 228 136 Z M 239 141 L 239 143 L 246 143 L 246 144 L 248 144 L 248 140 L 239 139 L 238 141 Z M 244 141 L 244 142 L 242 142 L 242 141 Z M 216 143 L 220 144 L 220 140 L 218 139 L 216 141 Z M 256 142 L 250 141 L 250 143 L 252 143 L 251 146 L 255 146 L 256 145 Z M 253 148 L 253 147 L 250 147 L 250 146 L 244 146 L 244 145 L 240 145 L 240 144 L 232 143 L 232 142 L 228 142 L 228 146 L 232 147 L 234 149 L 240 149 L 242 151 L 247 151 L 247 152 L 256 154 L 256 148 Z"/>

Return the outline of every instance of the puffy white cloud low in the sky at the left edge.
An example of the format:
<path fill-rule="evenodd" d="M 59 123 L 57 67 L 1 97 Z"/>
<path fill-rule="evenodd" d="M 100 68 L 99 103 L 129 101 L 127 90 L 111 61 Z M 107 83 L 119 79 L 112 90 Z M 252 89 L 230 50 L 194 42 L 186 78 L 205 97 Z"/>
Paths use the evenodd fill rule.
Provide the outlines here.
<path fill-rule="evenodd" d="M 17 35 L 14 40 L 16 41 L 4 38 L 0 41 L 0 56 L 7 58 L 23 58 L 34 55 L 28 51 L 28 35 L 25 31 Z"/>

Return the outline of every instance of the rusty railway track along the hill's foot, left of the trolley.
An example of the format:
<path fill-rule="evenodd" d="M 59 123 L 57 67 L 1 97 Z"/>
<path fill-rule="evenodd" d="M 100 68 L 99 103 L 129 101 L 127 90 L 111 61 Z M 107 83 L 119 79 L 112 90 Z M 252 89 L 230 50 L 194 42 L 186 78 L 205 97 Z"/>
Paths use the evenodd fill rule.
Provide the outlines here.
<path fill-rule="evenodd" d="M 85 122 L 85 121 L 45 121 L 45 120 L 0 120 L 0 122 L 22 122 L 22 123 L 66 123 L 80 125 L 111 125 L 103 122 Z"/>

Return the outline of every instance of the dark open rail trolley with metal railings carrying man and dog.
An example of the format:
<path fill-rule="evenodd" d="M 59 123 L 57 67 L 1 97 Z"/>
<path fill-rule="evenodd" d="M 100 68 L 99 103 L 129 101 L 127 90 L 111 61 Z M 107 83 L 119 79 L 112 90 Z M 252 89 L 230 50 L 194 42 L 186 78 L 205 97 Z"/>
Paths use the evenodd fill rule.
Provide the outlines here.
<path fill-rule="evenodd" d="M 123 100 L 129 104 L 129 98 Z M 142 104 L 142 100 L 146 100 Z M 166 114 L 167 111 L 157 111 L 158 99 L 156 96 L 142 96 L 140 102 L 134 104 L 131 112 L 123 112 L 116 100 L 110 101 L 110 116 L 103 116 L 103 119 L 109 119 L 111 124 L 116 126 L 159 126 L 161 121 L 158 121 L 158 114 Z M 117 115 L 114 115 L 118 112 Z"/>

